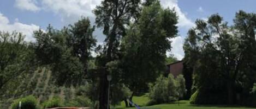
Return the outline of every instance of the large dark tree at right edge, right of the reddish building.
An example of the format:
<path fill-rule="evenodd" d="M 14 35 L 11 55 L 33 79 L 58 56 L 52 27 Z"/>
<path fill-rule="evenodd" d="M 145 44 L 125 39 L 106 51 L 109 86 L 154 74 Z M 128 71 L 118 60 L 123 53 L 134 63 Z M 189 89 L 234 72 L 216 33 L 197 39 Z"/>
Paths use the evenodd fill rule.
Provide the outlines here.
<path fill-rule="evenodd" d="M 201 100 L 195 103 L 234 104 L 237 98 L 245 100 L 242 95 L 248 97 L 256 73 L 255 21 L 255 14 L 239 11 L 228 26 L 214 14 L 207 21 L 197 20 L 188 31 L 184 59 L 194 69 L 194 97 Z"/>

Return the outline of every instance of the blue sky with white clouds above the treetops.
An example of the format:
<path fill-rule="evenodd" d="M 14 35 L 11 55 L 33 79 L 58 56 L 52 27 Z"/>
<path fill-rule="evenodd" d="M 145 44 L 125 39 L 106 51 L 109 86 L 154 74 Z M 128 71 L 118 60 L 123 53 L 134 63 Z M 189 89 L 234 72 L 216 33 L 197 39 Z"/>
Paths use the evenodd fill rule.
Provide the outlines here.
<path fill-rule="evenodd" d="M 26 35 L 26 41 L 34 41 L 33 31 L 46 29 L 51 24 L 61 29 L 78 21 L 81 16 L 90 18 L 94 24 L 92 10 L 102 0 L 0 0 L 0 31 L 18 31 Z M 235 12 L 256 11 L 255 0 L 160 0 L 163 8 L 174 8 L 179 17 L 178 36 L 172 41 L 171 52 L 177 59 L 184 56 L 182 49 L 188 29 L 194 27 L 195 20 L 207 19 L 218 13 L 224 21 L 233 23 Z M 98 44 L 103 43 L 105 36 L 102 29 L 94 31 Z"/>

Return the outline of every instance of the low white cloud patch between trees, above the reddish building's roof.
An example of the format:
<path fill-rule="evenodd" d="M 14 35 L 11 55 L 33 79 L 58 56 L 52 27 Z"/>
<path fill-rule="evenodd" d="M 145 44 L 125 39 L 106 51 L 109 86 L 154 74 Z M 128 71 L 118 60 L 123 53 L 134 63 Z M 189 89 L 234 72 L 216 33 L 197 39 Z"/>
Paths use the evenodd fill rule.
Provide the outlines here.
<path fill-rule="evenodd" d="M 171 43 L 171 52 L 167 54 L 173 54 L 174 57 L 176 57 L 178 60 L 182 60 L 184 57 L 184 51 L 183 51 L 183 43 L 184 43 L 184 37 L 177 36 L 172 39 Z"/>

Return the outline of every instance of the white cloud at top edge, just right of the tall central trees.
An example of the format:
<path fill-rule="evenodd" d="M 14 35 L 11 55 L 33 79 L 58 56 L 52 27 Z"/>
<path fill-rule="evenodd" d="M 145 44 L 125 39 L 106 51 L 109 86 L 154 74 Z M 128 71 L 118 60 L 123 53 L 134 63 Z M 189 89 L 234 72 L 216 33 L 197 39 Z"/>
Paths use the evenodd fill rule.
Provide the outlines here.
<path fill-rule="evenodd" d="M 186 14 L 184 14 L 184 12 L 181 11 L 180 7 L 178 7 L 177 0 L 160 0 L 160 3 L 163 5 L 164 8 L 175 8 L 175 11 L 178 15 L 178 27 L 186 29 L 194 27 L 195 24 L 189 18 L 187 18 Z"/>

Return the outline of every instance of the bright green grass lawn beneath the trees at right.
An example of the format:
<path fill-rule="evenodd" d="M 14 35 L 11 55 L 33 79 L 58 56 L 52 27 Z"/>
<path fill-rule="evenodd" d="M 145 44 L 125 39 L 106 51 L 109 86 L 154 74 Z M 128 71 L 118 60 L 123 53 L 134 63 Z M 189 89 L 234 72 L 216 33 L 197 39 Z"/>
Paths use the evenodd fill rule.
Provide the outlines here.
<path fill-rule="evenodd" d="M 133 102 L 141 107 L 141 109 L 249 109 L 252 107 L 243 107 L 243 106 L 227 106 L 227 105 L 190 105 L 188 100 L 181 100 L 180 104 L 178 102 L 172 102 L 170 104 L 160 104 L 160 105 L 153 105 L 153 106 L 146 106 L 148 101 L 147 94 L 144 94 L 140 97 L 133 97 Z M 124 102 L 121 103 L 119 106 L 115 106 L 115 109 L 136 109 L 135 107 L 126 108 Z M 254 108 L 255 109 L 255 108 Z"/>

